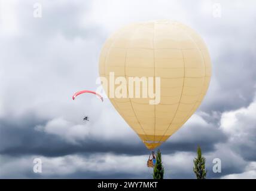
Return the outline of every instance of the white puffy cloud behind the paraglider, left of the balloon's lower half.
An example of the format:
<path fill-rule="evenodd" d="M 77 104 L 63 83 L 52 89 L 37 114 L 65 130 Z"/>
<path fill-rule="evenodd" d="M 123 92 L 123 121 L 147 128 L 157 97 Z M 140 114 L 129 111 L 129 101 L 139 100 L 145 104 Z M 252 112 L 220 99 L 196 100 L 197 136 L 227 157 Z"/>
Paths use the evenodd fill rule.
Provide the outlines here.
<path fill-rule="evenodd" d="M 121 116 L 113 109 L 108 100 L 99 101 L 93 96 L 82 95 L 75 101 L 74 106 L 65 112 L 65 118 L 51 119 L 45 125 L 38 125 L 36 130 L 58 135 L 71 143 L 86 140 L 122 141 L 121 143 L 141 143 L 135 132 L 126 124 Z M 88 104 L 86 104 L 88 103 Z M 87 109 L 84 109 L 88 107 Z M 88 113 L 89 122 L 83 121 Z M 142 143 L 141 143 L 142 144 Z"/>

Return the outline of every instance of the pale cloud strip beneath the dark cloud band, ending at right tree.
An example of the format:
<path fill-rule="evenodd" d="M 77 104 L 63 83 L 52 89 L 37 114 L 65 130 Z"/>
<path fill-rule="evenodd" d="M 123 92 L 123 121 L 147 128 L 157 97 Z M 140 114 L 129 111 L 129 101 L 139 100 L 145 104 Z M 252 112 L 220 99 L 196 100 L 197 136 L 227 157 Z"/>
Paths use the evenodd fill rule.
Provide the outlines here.
<path fill-rule="evenodd" d="M 117 173 L 133 174 L 138 178 L 151 178 L 152 168 L 147 167 L 148 155 L 128 156 L 113 155 L 111 153 L 93 155 L 66 155 L 61 157 L 44 156 L 23 156 L 22 158 L 1 157 L 0 177 L 9 177 L 13 173 L 22 175 L 23 172 L 33 174 L 33 159 L 39 158 L 42 161 L 41 177 L 69 177 L 74 173 L 88 172 L 100 175 L 110 175 Z M 188 171 L 192 174 L 193 154 L 175 153 L 173 155 L 162 155 L 163 164 L 166 169 L 166 178 L 175 178 L 176 174 Z M 10 169 L 13 169 L 11 171 Z M 27 173 L 27 175 L 31 175 Z M 34 174 L 35 175 L 35 174 Z M 25 177 L 28 178 L 28 177 Z M 90 177 L 86 177 L 90 178 Z"/>

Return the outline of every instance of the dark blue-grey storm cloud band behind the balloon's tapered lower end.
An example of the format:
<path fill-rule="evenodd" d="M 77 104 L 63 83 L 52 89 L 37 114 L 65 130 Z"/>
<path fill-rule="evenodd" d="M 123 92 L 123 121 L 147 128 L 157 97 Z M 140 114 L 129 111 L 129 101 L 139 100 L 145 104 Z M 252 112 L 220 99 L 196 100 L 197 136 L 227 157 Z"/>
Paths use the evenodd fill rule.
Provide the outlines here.
<path fill-rule="evenodd" d="M 12 118 L 12 116 L 10 116 Z M 104 118 L 100 118 L 104 121 Z M 145 154 L 145 146 L 140 143 L 139 137 L 129 129 L 130 136 L 126 132 L 115 132 L 118 136 L 124 134 L 127 141 L 121 138 L 114 137 L 112 139 L 102 138 L 103 135 L 98 131 L 91 131 L 92 128 L 98 128 L 97 125 L 90 127 L 89 134 L 78 139 L 77 142 L 71 142 L 63 138 L 63 134 L 48 131 L 38 131 L 36 127 L 38 124 L 45 124 L 45 121 L 36 119 L 35 116 L 22 117 L 23 124 L 19 124 L 20 119 L 11 119 L 11 121 L 1 120 L 1 134 L 0 134 L 0 153 L 8 155 L 29 155 L 37 154 L 43 156 L 63 156 L 72 153 L 95 153 L 95 152 L 112 152 L 116 154 L 126 155 L 143 155 Z M 200 120 L 200 118 L 199 118 Z M 202 119 L 201 119 L 202 120 Z M 14 122 L 13 122 L 14 121 Z M 63 129 L 63 124 L 60 124 L 60 130 Z M 44 127 L 42 127 L 44 128 Z M 83 130 L 86 127 L 83 125 Z M 121 127 L 117 127 L 121 128 Z M 51 126 L 51 129 L 53 127 Z M 75 131 L 75 130 L 74 130 Z M 200 134 L 198 133 L 200 132 Z M 72 134 L 72 130 L 70 131 Z M 69 136 L 70 136 L 69 134 Z M 81 132 L 80 132 L 81 134 Z M 132 142 L 130 140 L 132 140 Z M 174 134 L 170 140 L 164 143 L 160 149 L 163 153 L 173 153 L 176 151 L 193 151 L 198 145 L 202 146 L 203 150 L 214 150 L 216 143 L 222 143 L 227 140 L 224 133 L 211 124 L 192 124 L 185 125 L 178 133 Z M 135 144 L 136 143 L 136 144 Z"/>

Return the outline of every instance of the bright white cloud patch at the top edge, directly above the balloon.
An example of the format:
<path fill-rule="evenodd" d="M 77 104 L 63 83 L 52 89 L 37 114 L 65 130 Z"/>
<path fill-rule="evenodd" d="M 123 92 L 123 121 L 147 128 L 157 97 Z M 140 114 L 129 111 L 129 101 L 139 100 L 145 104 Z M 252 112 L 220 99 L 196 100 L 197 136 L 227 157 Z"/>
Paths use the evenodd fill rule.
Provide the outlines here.
<path fill-rule="evenodd" d="M 126 24 L 157 20 L 157 19 L 183 19 L 189 20 L 187 12 L 179 1 L 92 1 L 88 13 L 85 14 L 82 24 L 96 23 L 106 32 Z"/>

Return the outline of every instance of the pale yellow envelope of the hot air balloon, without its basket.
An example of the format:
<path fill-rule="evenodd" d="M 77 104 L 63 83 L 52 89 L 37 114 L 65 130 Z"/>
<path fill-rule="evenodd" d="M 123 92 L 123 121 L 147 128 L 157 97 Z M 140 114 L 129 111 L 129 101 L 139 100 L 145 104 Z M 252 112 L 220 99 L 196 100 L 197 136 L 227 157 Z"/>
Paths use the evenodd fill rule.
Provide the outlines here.
<path fill-rule="evenodd" d="M 205 42 L 188 26 L 159 20 L 129 24 L 103 45 L 99 75 L 110 78 L 160 77 L 160 103 L 149 98 L 106 95 L 148 149 L 175 133 L 199 107 L 211 79 Z M 109 85 L 110 86 L 110 83 Z M 126 85 L 129 91 L 129 84 Z M 153 85 L 156 88 L 156 84 Z"/>

